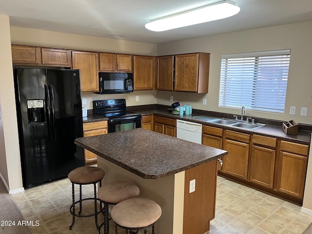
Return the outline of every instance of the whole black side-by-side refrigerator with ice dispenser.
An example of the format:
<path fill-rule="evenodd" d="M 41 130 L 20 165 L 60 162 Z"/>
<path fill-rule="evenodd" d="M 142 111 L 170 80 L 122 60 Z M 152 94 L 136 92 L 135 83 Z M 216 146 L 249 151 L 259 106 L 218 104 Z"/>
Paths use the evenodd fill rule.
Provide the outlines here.
<path fill-rule="evenodd" d="M 84 166 L 80 70 L 15 68 L 23 187 Z"/>

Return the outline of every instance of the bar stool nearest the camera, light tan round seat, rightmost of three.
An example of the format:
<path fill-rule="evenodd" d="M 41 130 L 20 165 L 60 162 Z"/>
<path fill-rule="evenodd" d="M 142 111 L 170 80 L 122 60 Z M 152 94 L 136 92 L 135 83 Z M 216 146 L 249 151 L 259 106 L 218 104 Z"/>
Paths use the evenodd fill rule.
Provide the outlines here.
<path fill-rule="evenodd" d="M 142 230 L 147 234 L 147 229 L 152 226 L 152 234 L 155 234 L 155 223 L 161 215 L 160 206 L 153 200 L 135 197 L 119 202 L 112 209 L 112 218 L 118 227 L 130 234 L 131 230 Z"/>

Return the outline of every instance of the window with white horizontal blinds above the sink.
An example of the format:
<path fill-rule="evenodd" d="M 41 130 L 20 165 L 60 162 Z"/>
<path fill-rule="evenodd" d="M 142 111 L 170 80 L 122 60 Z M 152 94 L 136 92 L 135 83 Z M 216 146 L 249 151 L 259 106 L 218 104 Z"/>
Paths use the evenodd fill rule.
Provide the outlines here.
<path fill-rule="evenodd" d="M 290 52 L 223 55 L 219 107 L 284 113 Z"/>

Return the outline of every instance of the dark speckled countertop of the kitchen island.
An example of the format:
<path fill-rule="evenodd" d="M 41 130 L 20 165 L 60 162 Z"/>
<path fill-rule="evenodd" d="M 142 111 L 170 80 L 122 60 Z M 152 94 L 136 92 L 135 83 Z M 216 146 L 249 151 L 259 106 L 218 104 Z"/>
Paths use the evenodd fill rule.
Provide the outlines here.
<path fill-rule="evenodd" d="M 142 128 L 80 137 L 75 144 L 144 179 L 171 176 L 228 154 Z"/>

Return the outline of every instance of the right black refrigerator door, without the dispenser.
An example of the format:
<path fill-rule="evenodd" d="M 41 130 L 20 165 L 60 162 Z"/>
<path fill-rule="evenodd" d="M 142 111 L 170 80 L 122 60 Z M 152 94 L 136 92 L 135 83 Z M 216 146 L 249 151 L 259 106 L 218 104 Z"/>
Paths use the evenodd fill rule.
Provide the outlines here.
<path fill-rule="evenodd" d="M 84 150 L 74 140 L 83 137 L 79 70 L 47 70 L 53 116 L 56 178 L 84 166 Z"/>

